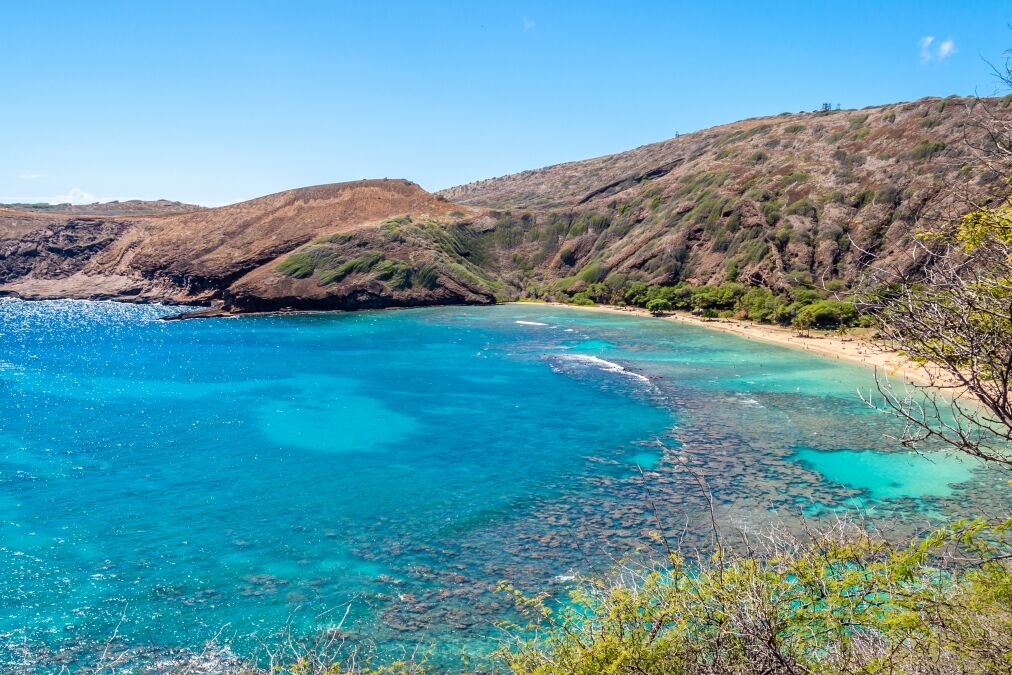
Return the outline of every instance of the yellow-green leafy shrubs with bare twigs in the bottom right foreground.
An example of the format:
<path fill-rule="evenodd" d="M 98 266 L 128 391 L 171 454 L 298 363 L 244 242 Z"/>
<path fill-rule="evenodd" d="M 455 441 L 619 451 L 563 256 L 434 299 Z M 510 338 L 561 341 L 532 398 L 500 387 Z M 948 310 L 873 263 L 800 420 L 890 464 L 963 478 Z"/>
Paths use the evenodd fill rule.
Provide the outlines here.
<path fill-rule="evenodd" d="M 1005 673 L 1012 521 L 960 521 L 894 545 L 840 527 L 756 537 L 586 581 L 567 603 L 508 589 L 515 673 Z M 765 541 L 765 543 L 763 543 Z M 753 546 L 761 546 L 756 551 Z"/>

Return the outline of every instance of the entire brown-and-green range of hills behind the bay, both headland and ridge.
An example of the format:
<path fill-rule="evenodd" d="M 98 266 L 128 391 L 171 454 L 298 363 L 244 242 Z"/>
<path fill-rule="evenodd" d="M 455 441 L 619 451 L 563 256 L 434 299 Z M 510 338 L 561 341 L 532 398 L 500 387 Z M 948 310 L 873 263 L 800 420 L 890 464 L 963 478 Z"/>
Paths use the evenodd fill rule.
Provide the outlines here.
<path fill-rule="evenodd" d="M 966 150 L 973 102 L 748 119 L 436 195 L 369 180 L 220 208 L 0 207 L 0 293 L 244 312 L 632 282 L 845 289 L 872 259 L 910 264 L 916 231 L 1000 190 Z"/>

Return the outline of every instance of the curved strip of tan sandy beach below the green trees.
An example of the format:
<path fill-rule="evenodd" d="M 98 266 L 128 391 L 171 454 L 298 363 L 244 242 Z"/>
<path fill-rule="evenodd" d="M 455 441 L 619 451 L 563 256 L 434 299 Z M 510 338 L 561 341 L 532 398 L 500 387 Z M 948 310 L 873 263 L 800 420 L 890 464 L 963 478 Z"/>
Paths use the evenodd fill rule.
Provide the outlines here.
<path fill-rule="evenodd" d="M 887 379 L 900 379 L 905 385 L 931 387 L 934 389 L 951 390 L 957 385 L 946 383 L 944 378 L 932 377 L 920 363 L 916 363 L 896 349 L 872 340 L 839 336 L 826 331 L 811 331 L 811 335 L 803 337 L 792 329 L 769 324 L 759 324 L 746 319 L 702 319 L 687 312 L 670 312 L 654 316 L 645 309 L 637 307 L 617 307 L 614 305 L 566 305 L 564 303 L 506 303 L 508 305 L 544 305 L 549 307 L 583 310 L 587 312 L 603 312 L 609 314 L 625 314 L 647 319 L 671 321 L 688 326 L 696 326 L 709 330 L 731 333 L 748 340 L 757 340 L 769 344 L 804 349 L 822 357 L 835 358 L 870 367 L 881 371 Z"/>

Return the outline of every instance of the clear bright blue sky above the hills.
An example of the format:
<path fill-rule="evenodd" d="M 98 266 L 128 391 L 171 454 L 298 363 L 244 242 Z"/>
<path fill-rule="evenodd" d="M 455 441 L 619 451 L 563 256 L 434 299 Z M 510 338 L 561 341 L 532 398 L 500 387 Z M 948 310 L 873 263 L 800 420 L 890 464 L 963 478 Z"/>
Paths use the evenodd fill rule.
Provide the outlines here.
<path fill-rule="evenodd" d="M 745 117 L 992 95 L 1012 2 L 0 0 L 0 201 L 429 190 Z"/>

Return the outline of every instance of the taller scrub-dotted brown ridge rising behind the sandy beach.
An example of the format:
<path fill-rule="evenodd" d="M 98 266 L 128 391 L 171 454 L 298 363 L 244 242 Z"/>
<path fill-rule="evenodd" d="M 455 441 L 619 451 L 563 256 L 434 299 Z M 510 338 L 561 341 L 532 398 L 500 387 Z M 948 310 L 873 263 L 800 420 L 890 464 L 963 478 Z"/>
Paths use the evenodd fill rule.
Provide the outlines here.
<path fill-rule="evenodd" d="M 525 284 L 850 282 L 999 187 L 967 152 L 971 104 L 1009 112 L 1007 98 L 949 97 L 781 114 L 441 194 L 502 212 Z"/>

